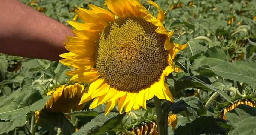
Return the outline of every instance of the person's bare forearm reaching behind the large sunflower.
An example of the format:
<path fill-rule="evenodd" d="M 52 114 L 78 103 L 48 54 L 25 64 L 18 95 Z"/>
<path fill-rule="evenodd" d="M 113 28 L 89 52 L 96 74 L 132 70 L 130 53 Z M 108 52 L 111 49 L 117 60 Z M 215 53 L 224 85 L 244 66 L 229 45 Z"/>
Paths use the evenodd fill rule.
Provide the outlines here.
<path fill-rule="evenodd" d="M 71 28 L 17 0 L 0 0 L 0 53 L 58 61 Z"/>

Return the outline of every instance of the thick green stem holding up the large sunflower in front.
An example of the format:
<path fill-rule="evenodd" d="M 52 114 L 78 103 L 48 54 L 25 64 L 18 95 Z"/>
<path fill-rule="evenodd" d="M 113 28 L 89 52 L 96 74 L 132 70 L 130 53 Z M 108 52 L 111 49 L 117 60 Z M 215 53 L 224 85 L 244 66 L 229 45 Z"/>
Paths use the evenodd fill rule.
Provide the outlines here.
<path fill-rule="evenodd" d="M 162 122 L 163 111 L 162 111 L 161 101 L 156 96 L 154 96 L 154 103 L 155 103 L 155 108 L 157 112 L 158 134 L 166 135 L 167 131 L 165 131 L 165 128 L 164 128 L 165 122 Z"/>

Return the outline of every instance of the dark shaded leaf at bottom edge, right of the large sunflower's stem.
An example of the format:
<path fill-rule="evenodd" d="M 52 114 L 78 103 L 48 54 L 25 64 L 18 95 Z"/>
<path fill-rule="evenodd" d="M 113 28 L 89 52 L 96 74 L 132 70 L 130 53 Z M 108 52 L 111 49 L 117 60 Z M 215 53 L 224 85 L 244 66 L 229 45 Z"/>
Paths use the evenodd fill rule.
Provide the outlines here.
<path fill-rule="evenodd" d="M 211 116 L 201 116 L 185 126 L 175 129 L 175 135 L 201 135 L 219 134 L 226 135 L 225 129 L 218 125 L 217 121 Z"/>

